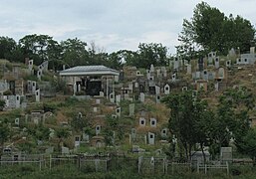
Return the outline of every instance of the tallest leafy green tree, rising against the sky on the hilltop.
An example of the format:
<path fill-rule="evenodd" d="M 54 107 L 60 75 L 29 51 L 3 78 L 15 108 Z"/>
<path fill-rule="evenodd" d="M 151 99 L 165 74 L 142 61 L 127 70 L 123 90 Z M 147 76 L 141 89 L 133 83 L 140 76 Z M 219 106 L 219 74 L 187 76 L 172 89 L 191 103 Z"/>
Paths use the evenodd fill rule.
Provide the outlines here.
<path fill-rule="evenodd" d="M 226 55 L 231 48 L 248 51 L 255 40 L 255 29 L 248 20 L 240 16 L 226 17 L 217 8 L 201 2 L 196 5 L 191 20 L 183 20 L 178 40 L 180 53 L 187 54 L 189 49 L 196 47 L 199 52 L 217 51 Z"/>

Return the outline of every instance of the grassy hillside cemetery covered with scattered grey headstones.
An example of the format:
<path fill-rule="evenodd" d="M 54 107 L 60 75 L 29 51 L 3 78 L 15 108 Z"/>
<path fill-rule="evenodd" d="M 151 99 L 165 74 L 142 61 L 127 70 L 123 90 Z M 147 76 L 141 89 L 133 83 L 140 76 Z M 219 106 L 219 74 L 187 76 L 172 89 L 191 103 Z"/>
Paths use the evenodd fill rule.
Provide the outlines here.
<path fill-rule="evenodd" d="M 226 89 L 247 88 L 255 95 L 255 61 L 253 48 L 249 54 L 218 57 L 211 52 L 189 63 L 174 58 L 166 67 L 125 66 L 120 71 L 77 66 L 56 74 L 48 62 L 35 66 L 30 59 L 24 64 L 5 61 L 0 121 L 7 122 L 11 136 L 1 143 L 0 168 L 34 165 L 41 171 L 72 166 L 108 172 L 132 163 L 130 170 L 143 176 L 194 171 L 230 175 L 231 168 L 241 164 L 233 138 L 214 155 L 207 143 L 203 148 L 196 143 L 185 158 L 169 128 L 173 111 L 164 98 L 192 91 L 194 100 L 201 94 L 214 108 Z M 252 127 L 255 103 L 249 115 Z"/>

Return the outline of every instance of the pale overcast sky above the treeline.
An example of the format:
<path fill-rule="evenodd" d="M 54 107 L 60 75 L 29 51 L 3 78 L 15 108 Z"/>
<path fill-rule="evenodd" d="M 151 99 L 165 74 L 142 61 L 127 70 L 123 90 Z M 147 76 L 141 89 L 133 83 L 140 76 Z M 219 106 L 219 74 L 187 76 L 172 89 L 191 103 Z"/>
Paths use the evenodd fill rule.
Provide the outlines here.
<path fill-rule="evenodd" d="M 112 53 L 136 51 L 139 43 L 161 43 L 175 54 L 183 19 L 198 0 L 0 0 L 0 36 L 17 42 L 45 34 L 61 42 L 78 38 Z M 256 24 L 255 0 L 206 0 L 226 16 Z"/>

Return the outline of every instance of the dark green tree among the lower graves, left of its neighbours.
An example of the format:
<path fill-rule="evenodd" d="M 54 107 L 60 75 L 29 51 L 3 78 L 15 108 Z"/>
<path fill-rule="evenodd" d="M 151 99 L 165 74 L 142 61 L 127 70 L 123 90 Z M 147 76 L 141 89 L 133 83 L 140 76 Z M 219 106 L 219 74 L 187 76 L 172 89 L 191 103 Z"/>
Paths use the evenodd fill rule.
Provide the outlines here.
<path fill-rule="evenodd" d="M 206 142 L 207 102 L 194 97 L 192 91 L 182 91 L 168 95 L 162 99 L 170 108 L 169 129 L 177 139 L 178 144 L 185 149 L 187 159 L 190 159 L 192 147 Z M 182 153 L 180 153 L 182 155 Z"/>

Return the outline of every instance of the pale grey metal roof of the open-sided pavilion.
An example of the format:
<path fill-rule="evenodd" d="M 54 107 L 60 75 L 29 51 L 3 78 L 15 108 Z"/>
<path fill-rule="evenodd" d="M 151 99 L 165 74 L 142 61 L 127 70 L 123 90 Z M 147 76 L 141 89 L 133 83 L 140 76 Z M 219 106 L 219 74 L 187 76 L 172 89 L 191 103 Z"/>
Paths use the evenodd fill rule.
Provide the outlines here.
<path fill-rule="evenodd" d="M 119 76 L 120 72 L 105 66 L 77 66 L 60 72 L 60 76 Z"/>

